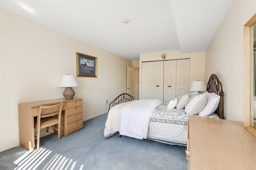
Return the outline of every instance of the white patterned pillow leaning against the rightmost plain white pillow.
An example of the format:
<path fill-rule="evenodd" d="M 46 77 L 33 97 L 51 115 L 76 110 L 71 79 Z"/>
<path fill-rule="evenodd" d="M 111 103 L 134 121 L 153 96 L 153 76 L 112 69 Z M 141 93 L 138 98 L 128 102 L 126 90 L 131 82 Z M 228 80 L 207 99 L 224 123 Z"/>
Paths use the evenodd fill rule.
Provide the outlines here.
<path fill-rule="evenodd" d="M 206 94 L 195 96 L 188 102 L 185 107 L 185 112 L 188 115 L 196 115 L 198 114 L 206 105 L 207 96 Z"/>

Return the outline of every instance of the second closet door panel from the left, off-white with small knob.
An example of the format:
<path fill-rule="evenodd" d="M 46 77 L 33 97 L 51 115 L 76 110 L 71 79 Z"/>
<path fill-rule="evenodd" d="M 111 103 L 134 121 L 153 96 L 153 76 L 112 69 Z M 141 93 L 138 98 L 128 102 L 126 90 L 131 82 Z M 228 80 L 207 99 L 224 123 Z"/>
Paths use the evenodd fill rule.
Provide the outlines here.
<path fill-rule="evenodd" d="M 164 61 L 152 62 L 152 99 L 164 101 Z"/>

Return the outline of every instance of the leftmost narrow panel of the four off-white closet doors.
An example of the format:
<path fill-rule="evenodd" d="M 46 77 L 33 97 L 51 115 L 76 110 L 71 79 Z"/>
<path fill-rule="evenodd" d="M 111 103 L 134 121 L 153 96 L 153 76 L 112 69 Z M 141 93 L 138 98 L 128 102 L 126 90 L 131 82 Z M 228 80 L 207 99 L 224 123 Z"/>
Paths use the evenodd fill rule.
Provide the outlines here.
<path fill-rule="evenodd" d="M 152 62 L 142 63 L 141 99 L 152 99 Z"/>

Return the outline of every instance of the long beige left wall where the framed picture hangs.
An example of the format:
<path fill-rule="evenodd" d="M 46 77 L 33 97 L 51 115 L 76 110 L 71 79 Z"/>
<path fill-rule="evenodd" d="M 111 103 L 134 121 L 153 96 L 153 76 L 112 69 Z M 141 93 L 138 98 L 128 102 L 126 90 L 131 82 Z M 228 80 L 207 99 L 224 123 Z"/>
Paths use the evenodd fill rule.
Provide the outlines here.
<path fill-rule="evenodd" d="M 132 61 L 0 9 L 0 152 L 19 146 L 18 103 L 63 98 L 58 84 L 76 75 L 76 52 L 98 57 L 98 78 L 76 77 L 73 88 L 86 120 L 126 92 Z"/>

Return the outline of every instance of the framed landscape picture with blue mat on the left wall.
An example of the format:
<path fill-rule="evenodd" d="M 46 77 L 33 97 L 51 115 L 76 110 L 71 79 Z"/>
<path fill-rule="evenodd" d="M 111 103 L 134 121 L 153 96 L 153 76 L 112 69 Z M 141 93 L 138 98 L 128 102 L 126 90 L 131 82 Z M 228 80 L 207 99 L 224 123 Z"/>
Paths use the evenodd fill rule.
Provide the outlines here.
<path fill-rule="evenodd" d="M 76 53 L 76 76 L 97 77 L 97 57 Z"/>

